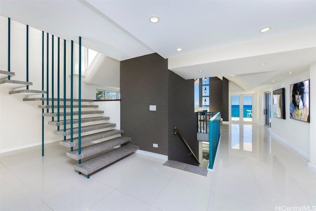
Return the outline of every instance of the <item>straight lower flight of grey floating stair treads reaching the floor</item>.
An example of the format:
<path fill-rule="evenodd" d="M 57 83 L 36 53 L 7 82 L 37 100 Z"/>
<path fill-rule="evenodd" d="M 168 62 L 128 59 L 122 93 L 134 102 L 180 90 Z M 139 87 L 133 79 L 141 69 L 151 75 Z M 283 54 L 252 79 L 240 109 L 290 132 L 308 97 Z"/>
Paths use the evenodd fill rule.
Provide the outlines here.
<path fill-rule="evenodd" d="M 49 102 L 51 102 L 51 98 Z M 57 101 L 56 98 L 53 99 Z M 25 98 L 23 101 L 46 101 L 46 98 L 37 97 L 37 98 Z M 65 103 L 69 102 L 70 99 L 66 99 Z M 78 101 L 75 100 L 74 101 Z M 66 153 L 66 156 L 72 158 L 76 161 L 79 161 L 79 164 L 75 165 L 75 169 L 79 173 L 83 173 L 90 177 L 90 174 L 96 170 L 102 169 L 111 163 L 135 152 L 139 149 L 138 146 L 128 144 L 131 141 L 131 138 L 121 136 L 123 130 L 114 129 L 116 127 L 115 123 L 109 123 L 109 117 L 100 116 L 104 114 L 104 111 L 94 110 L 98 108 L 98 105 L 90 104 L 93 100 L 82 100 L 85 102 L 84 105 L 81 105 L 81 124 L 84 126 L 81 127 L 81 153 L 79 154 L 78 145 L 79 145 L 79 128 L 73 127 L 73 140 L 70 139 L 71 135 L 71 112 L 67 111 L 70 108 L 70 105 L 66 104 L 66 130 L 63 128 L 53 131 L 55 135 L 60 135 L 66 137 L 64 141 L 60 141 L 59 144 L 65 147 L 69 147 L 71 150 Z M 63 99 L 60 99 L 60 102 L 64 103 Z M 73 108 L 78 109 L 78 105 L 73 105 Z M 52 105 L 39 105 L 39 108 L 42 109 L 52 109 Z M 54 107 L 56 109 L 57 107 Z M 59 113 L 49 112 L 43 113 L 44 117 L 57 117 L 59 114 L 59 121 L 50 121 L 48 125 L 51 126 L 64 126 L 64 105 L 60 105 L 61 111 Z M 73 111 L 73 116 L 78 116 L 79 111 Z M 73 124 L 77 126 L 79 119 L 73 119 Z M 77 136 L 77 137 L 75 137 Z M 82 162 L 81 162 L 82 159 Z"/>

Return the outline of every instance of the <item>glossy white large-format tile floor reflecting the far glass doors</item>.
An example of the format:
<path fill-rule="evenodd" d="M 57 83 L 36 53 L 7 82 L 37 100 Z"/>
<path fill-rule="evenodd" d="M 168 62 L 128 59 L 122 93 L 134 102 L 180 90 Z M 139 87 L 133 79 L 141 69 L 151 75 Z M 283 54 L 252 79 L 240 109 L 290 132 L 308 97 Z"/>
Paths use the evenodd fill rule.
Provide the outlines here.
<path fill-rule="evenodd" d="M 0 154 L 1 211 L 281 211 L 316 210 L 316 173 L 266 127 L 223 125 L 207 177 L 132 154 L 92 174 L 58 143 Z M 279 207 L 287 206 L 287 207 Z"/>

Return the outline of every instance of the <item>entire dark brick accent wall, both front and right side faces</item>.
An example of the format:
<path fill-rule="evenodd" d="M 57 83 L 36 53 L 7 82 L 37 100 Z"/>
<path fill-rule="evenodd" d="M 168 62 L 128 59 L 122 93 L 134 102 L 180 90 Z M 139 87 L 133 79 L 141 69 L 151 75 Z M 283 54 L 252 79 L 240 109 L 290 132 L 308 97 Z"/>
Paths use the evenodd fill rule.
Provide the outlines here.
<path fill-rule="evenodd" d="M 120 62 L 120 94 L 123 136 L 131 137 L 141 150 L 197 165 L 180 138 L 172 134 L 173 127 L 178 127 L 197 155 L 194 80 L 169 71 L 167 59 L 154 53 Z M 156 105 L 157 111 L 149 111 L 150 105 Z"/>

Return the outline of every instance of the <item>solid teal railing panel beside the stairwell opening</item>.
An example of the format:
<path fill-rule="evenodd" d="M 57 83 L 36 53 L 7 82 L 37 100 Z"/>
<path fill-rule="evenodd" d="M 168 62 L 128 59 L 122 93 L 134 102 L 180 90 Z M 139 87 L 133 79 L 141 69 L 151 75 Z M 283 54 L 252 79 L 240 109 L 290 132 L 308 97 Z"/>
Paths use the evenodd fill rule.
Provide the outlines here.
<path fill-rule="evenodd" d="M 217 112 L 209 120 L 209 165 L 208 169 L 213 169 L 215 155 L 221 136 L 221 113 Z"/>

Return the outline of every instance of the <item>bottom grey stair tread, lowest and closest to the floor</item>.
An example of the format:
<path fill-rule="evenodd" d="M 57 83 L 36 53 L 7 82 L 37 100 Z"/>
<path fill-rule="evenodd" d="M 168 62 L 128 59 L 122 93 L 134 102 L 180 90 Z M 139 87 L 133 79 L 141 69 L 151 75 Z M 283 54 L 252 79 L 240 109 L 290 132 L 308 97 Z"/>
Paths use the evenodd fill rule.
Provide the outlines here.
<path fill-rule="evenodd" d="M 103 154 L 94 159 L 91 159 L 87 162 L 84 162 L 82 164 L 77 164 L 75 165 L 75 169 L 87 175 L 87 177 L 89 178 L 90 173 L 98 169 L 101 169 L 105 166 L 108 166 L 109 164 L 135 152 L 138 149 L 139 149 L 138 146 L 127 144 L 118 149 L 112 150 L 106 154 Z"/>

